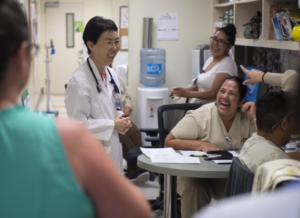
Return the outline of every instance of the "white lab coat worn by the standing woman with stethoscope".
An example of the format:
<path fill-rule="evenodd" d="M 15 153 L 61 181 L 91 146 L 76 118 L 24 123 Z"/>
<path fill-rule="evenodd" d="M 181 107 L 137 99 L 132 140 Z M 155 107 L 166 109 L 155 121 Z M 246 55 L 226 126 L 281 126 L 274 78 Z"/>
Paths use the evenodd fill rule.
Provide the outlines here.
<path fill-rule="evenodd" d="M 98 93 L 95 79 L 87 62 L 84 62 L 74 71 L 65 90 L 64 103 L 67 116 L 86 126 L 95 138 L 102 142 L 104 150 L 110 155 L 117 168 L 123 172 L 122 146 L 113 123 L 113 119 L 121 116 L 122 112 L 116 110 L 115 98 L 112 95 L 113 88 L 109 83 L 110 76 L 106 67 L 107 88 L 94 62 L 88 59 L 99 85 L 102 86 L 102 91 Z M 110 67 L 108 69 L 120 90 L 116 73 Z"/>

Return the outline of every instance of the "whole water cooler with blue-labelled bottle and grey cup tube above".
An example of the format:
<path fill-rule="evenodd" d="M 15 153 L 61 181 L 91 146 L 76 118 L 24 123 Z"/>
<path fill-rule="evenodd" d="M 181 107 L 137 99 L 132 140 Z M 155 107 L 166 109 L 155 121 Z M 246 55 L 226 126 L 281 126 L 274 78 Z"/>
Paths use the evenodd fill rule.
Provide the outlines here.
<path fill-rule="evenodd" d="M 143 45 L 140 49 L 140 79 L 143 85 L 138 92 L 138 128 L 158 129 L 157 109 L 167 104 L 168 88 L 162 87 L 165 83 L 165 50 L 152 48 L 153 18 L 143 18 Z M 150 146 L 144 141 L 145 133 L 141 133 L 143 146 Z"/>

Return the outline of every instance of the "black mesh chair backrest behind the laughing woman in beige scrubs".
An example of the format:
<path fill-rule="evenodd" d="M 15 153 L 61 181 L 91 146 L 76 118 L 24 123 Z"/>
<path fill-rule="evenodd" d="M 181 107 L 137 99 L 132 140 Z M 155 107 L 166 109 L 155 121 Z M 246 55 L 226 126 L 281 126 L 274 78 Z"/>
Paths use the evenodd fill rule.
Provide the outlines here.
<path fill-rule="evenodd" d="M 160 147 L 164 147 L 164 140 L 170 131 L 184 117 L 187 111 L 196 110 L 203 104 L 166 104 L 161 105 L 157 110 L 158 133 Z"/>

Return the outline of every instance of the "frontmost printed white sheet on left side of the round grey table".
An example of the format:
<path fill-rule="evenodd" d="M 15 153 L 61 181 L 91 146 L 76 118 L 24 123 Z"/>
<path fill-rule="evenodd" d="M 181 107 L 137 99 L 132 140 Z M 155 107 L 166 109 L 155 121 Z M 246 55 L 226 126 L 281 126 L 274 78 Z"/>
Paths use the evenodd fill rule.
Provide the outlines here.
<path fill-rule="evenodd" d="M 183 156 L 151 156 L 152 163 L 174 163 L 174 164 L 200 164 L 197 157 L 183 157 Z"/>

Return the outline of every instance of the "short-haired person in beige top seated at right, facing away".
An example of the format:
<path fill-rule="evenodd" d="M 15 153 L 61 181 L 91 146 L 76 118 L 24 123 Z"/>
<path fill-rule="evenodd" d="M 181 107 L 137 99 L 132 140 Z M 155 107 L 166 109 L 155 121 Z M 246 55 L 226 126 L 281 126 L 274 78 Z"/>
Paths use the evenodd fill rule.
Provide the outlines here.
<path fill-rule="evenodd" d="M 256 105 L 257 133 L 243 145 L 238 159 L 253 173 L 263 163 L 289 159 L 280 147 L 286 145 L 292 134 L 291 100 L 279 92 L 267 92 Z"/>

